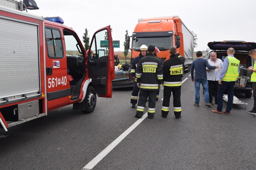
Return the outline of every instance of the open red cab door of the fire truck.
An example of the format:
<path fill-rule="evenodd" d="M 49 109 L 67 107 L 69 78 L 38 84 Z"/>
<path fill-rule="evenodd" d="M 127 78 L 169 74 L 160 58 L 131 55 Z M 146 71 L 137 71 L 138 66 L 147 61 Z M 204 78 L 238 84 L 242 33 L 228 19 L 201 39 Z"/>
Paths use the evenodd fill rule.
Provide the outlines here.
<path fill-rule="evenodd" d="M 104 43 L 103 43 L 104 42 Z M 90 51 L 93 51 L 91 53 Z M 99 97 L 112 97 L 114 48 L 110 26 L 94 33 L 88 52 L 89 76 Z"/>

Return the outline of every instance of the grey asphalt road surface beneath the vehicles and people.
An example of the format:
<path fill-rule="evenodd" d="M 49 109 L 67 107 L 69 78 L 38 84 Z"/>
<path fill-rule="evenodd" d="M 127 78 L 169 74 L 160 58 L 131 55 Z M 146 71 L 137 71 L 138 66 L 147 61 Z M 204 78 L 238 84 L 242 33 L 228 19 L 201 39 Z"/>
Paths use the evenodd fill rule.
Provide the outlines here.
<path fill-rule="evenodd" d="M 91 114 L 70 105 L 8 132 L 0 129 L 0 169 L 256 169 L 256 117 L 247 113 L 253 98 L 235 94 L 248 103 L 246 109 L 233 105 L 230 115 L 215 114 L 216 105 L 204 105 L 202 87 L 200 107 L 193 105 L 189 73 L 183 80 L 180 119 L 172 112 L 172 98 L 167 118 L 161 117 L 160 100 L 153 119 L 137 119 L 132 88 L 126 88 L 115 89 L 111 99 L 98 97 Z"/>

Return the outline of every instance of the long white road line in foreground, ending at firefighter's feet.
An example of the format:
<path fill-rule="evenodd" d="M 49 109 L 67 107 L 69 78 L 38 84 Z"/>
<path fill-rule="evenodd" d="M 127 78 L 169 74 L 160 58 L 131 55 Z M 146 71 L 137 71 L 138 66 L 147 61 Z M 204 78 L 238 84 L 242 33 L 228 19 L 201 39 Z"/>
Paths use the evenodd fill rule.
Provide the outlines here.
<path fill-rule="evenodd" d="M 119 137 L 116 138 L 110 145 L 108 145 L 102 152 L 100 152 L 93 160 L 91 160 L 82 170 L 93 169 L 99 161 L 101 161 L 115 146 L 118 145 L 133 129 L 135 129 L 146 117 L 148 116 L 148 112 L 145 113 L 142 118 L 137 120 L 133 125 L 131 125 L 126 131 L 124 131 Z"/>

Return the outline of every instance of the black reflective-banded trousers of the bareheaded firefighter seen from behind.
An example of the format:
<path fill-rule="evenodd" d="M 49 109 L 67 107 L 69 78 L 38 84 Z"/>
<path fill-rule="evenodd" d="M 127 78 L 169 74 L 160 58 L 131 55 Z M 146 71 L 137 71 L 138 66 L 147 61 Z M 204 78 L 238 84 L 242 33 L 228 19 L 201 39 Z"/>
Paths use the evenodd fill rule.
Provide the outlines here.
<path fill-rule="evenodd" d="M 167 117 L 169 113 L 170 97 L 173 96 L 173 111 L 175 118 L 181 117 L 181 88 L 164 88 L 162 117 Z"/>

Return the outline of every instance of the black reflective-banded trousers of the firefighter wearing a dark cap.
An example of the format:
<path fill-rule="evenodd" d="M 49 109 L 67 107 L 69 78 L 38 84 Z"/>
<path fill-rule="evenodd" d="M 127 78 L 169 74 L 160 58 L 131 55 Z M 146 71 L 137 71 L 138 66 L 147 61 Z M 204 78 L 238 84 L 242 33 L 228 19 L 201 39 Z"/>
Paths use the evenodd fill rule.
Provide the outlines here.
<path fill-rule="evenodd" d="M 141 118 L 143 116 L 143 112 L 148 99 L 148 118 L 152 119 L 156 110 L 156 96 L 157 91 L 140 90 L 139 102 L 137 105 L 135 117 Z"/>

